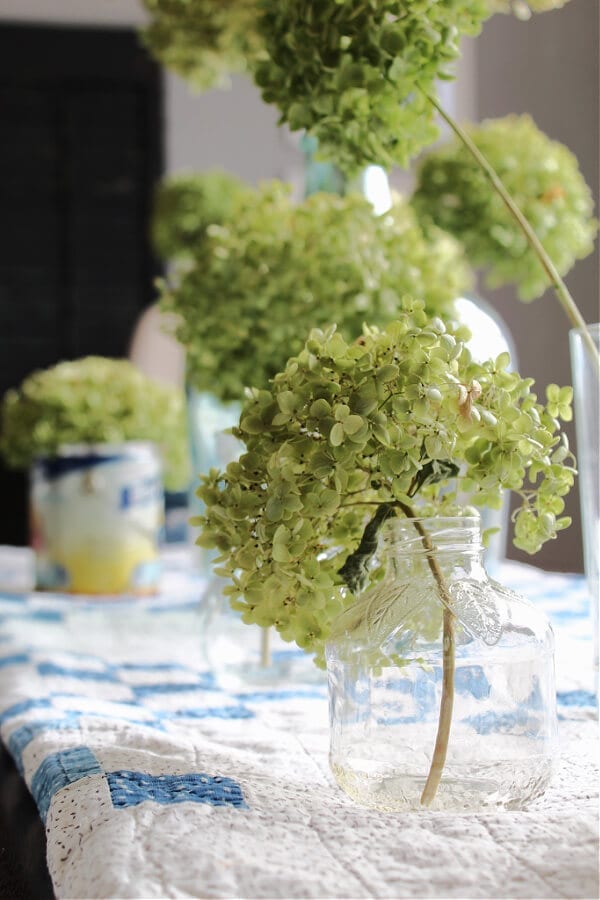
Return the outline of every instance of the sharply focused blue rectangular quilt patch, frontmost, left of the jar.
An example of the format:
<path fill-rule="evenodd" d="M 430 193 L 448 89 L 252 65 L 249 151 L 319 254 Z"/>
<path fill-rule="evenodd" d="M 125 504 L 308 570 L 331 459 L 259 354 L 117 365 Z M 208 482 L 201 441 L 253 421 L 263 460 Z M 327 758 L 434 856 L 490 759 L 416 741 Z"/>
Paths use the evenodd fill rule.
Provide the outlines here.
<path fill-rule="evenodd" d="M 231 778 L 195 775 L 147 775 L 145 772 L 107 772 L 113 806 L 125 809 L 144 800 L 154 803 L 210 803 L 211 806 L 234 806 L 248 809 L 242 789 Z"/>

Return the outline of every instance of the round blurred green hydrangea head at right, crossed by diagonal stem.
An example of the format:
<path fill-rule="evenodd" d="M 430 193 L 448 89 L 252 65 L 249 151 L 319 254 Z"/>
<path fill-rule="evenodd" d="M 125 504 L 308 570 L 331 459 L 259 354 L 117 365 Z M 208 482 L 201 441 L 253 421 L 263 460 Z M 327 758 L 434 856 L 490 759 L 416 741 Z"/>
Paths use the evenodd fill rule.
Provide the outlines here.
<path fill-rule="evenodd" d="M 491 119 L 468 129 L 529 221 L 561 275 L 592 252 L 597 222 L 575 156 L 529 116 Z M 548 276 L 500 196 L 458 141 L 428 154 L 411 199 L 424 222 L 457 237 L 495 287 L 515 283 L 522 300 L 540 296 Z"/>

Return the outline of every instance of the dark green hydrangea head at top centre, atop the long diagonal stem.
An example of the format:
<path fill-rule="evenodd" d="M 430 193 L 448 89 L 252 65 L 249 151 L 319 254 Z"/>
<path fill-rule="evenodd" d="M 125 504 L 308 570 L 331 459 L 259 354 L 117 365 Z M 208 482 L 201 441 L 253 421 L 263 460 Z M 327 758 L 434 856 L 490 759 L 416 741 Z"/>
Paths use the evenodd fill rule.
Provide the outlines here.
<path fill-rule="evenodd" d="M 348 172 L 404 167 L 435 140 L 419 89 L 451 77 L 461 35 L 490 14 L 486 0 L 265 0 L 261 9 L 267 58 L 254 80 L 264 100 Z"/>

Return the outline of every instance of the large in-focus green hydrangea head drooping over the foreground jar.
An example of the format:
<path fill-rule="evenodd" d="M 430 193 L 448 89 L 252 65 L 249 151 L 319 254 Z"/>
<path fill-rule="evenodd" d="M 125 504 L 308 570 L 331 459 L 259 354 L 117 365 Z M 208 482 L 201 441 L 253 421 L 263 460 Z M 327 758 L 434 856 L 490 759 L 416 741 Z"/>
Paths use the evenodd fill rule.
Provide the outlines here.
<path fill-rule="evenodd" d="M 203 478 L 197 522 L 245 622 L 322 659 L 365 524 L 416 509 L 417 492 L 431 515 L 517 491 L 515 543 L 530 553 L 567 527 L 574 469 L 554 414 L 569 418 L 569 389 L 546 406 L 507 353 L 475 363 L 460 337 L 405 298 L 397 321 L 352 344 L 315 329 L 271 390 L 249 392 L 234 431 L 246 452 Z"/>

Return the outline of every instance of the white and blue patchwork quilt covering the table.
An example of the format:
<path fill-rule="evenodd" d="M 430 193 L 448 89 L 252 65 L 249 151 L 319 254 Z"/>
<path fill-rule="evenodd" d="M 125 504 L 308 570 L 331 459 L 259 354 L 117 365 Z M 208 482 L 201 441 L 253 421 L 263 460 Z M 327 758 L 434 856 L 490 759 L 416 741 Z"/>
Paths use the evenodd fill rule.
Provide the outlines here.
<path fill-rule="evenodd" d="M 328 769 L 324 682 L 220 689 L 185 553 L 152 599 L 23 592 L 0 551 L 0 735 L 59 897 L 598 896 L 598 732 L 578 576 L 498 573 L 551 616 L 561 759 L 526 812 L 381 814 Z"/>

